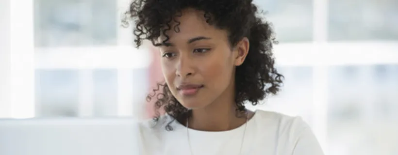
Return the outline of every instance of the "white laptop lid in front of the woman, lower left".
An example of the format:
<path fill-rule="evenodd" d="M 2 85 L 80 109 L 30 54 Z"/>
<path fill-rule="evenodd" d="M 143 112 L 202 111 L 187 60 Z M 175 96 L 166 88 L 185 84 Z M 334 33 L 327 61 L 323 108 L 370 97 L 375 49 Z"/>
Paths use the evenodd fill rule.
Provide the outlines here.
<path fill-rule="evenodd" d="M 0 119 L 0 155 L 139 155 L 135 121 Z"/>

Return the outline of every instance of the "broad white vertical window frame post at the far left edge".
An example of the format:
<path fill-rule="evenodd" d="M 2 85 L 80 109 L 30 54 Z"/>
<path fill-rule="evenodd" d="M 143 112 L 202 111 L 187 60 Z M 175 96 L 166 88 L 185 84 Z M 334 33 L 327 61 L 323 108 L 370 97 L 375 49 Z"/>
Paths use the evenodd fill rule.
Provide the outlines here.
<path fill-rule="evenodd" d="M 8 60 L 0 62 L 0 75 L 6 79 L 0 92 L 4 98 L 0 102 L 0 118 L 31 118 L 35 115 L 33 0 L 2 0 L 0 4 L 4 7 L 1 24 L 8 33 L 1 35 L 8 43 L 1 53 Z"/>

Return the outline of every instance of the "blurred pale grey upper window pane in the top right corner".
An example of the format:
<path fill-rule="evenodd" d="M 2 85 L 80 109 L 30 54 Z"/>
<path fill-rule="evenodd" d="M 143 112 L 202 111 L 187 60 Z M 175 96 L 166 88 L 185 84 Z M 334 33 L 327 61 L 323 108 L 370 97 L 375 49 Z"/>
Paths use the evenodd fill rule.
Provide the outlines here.
<path fill-rule="evenodd" d="M 329 40 L 397 40 L 397 0 L 330 0 Z"/>

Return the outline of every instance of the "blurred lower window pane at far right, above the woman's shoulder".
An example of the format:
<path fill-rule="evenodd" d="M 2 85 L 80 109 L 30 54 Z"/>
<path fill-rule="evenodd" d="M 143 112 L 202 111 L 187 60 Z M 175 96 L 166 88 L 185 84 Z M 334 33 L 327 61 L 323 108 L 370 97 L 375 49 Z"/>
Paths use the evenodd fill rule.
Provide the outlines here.
<path fill-rule="evenodd" d="M 345 73 L 348 67 L 353 73 Z M 390 130 L 396 130 L 398 118 L 397 71 L 398 63 L 329 69 L 328 138 L 334 154 L 396 153 L 393 145 L 379 140 L 397 141 L 398 135 Z"/>

